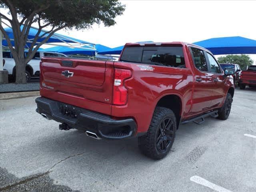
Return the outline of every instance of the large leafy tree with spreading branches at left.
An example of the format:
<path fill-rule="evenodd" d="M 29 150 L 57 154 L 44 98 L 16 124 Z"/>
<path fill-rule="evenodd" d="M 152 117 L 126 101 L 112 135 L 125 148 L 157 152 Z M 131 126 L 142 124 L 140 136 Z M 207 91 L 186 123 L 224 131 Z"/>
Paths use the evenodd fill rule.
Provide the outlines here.
<path fill-rule="evenodd" d="M 12 26 L 14 47 L 2 24 L 0 30 L 16 63 L 16 83 L 24 84 L 26 64 L 54 32 L 63 28 L 86 29 L 101 22 L 112 26 L 114 18 L 124 12 L 125 6 L 118 0 L 0 0 L 0 8 L 8 9 L 10 13 L 10 16 L 1 13 L 0 16 Z M 33 23 L 38 23 L 39 30 L 28 49 L 28 56 L 24 58 L 28 32 Z M 43 29 L 46 27 L 51 29 L 45 32 Z M 40 35 L 40 32 L 44 34 Z M 44 40 L 37 43 L 40 38 Z"/>

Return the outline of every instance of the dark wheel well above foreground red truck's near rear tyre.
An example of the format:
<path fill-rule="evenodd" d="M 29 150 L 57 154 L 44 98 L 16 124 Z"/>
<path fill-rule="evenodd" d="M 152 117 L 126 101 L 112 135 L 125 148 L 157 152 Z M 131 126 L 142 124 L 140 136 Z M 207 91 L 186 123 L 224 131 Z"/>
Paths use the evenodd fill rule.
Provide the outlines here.
<path fill-rule="evenodd" d="M 158 100 L 156 106 L 165 107 L 174 112 L 178 129 L 182 114 L 182 99 L 180 96 L 176 94 L 164 95 Z"/>

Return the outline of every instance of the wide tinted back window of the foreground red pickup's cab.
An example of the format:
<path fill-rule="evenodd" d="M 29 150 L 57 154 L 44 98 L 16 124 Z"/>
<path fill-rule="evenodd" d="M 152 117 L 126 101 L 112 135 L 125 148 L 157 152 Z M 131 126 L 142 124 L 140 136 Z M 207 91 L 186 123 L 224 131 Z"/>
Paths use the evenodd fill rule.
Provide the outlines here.
<path fill-rule="evenodd" d="M 182 47 L 126 47 L 120 61 L 186 68 Z"/>

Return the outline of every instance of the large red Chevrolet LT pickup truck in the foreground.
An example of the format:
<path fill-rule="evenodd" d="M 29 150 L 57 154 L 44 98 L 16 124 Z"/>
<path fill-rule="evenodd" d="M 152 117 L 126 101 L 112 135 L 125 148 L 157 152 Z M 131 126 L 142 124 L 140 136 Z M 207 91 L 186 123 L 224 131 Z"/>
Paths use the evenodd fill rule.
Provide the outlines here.
<path fill-rule="evenodd" d="M 234 69 L 184 42 L 126 44 L 117 62 L 42 58 L 36 111 L 60 130 L 96 139 L 138 137 L 140 150 L 161 159 L 180 124 L 226 120 Z"/>

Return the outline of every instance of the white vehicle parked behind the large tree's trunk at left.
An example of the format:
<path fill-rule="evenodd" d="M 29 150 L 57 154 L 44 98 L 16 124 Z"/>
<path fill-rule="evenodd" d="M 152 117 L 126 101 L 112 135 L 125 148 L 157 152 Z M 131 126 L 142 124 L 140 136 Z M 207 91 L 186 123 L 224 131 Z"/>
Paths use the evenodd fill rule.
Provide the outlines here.
<path fill-rule="evenodd" d="M 25 57 L 27 52 L 24 53 Z M 26 80 L 29 81 L 31 77 L 39 77 L 40 75 L 40 61 L 42 57 L 67 57 L 62 53 L 57 52 L 44 52 L 38 51 L 30 62 L 26 65 Z M 4 70 L 8 71 L 8 75 L 11 79 L 15 79 L 15 61 L 11 52 L 3 52 L 3 58 L 5 60 Z"/>

